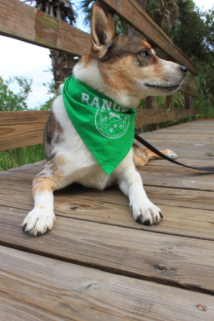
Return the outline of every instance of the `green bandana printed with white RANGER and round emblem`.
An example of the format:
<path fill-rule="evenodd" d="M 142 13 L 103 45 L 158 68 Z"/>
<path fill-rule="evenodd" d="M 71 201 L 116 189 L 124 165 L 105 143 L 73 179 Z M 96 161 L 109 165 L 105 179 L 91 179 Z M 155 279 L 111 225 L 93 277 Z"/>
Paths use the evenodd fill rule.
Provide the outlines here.
<path fill-rule="evenodd" d="M 136 111 L 119 106 L 74 76 L 64 82 L 63 100 L 76 131 L 102 169 L 111 174 L 132 147 Z"/>

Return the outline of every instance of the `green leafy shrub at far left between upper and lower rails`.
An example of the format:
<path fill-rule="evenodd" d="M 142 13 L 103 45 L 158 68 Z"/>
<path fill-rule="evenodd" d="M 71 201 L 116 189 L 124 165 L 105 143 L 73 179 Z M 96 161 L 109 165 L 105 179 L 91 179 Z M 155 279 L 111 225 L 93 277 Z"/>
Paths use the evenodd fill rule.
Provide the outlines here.
<path fill-rule="evenodd" d="M 9 85 L 17 81 L 20 87 L 18 93 L 9 89 Z M 0 111 L 26 110 L 28 94 L 31 91 L 32 79 L 25 77 L 12 77 L 4 81 L 0 77 Z"/>

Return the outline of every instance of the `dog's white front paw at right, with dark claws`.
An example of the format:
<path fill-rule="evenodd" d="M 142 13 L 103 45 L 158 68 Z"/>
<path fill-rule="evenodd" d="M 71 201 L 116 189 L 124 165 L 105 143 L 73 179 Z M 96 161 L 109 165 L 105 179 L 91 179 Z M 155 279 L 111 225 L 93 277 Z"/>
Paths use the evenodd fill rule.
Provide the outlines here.
<path fill-rule="evenodd" d="M 158 224 L 163 218 L 160 209 L 148 200 L 131 204 L 130 209 L 133 211 L 134 219 L 138 223 L 146 225 Z"/>

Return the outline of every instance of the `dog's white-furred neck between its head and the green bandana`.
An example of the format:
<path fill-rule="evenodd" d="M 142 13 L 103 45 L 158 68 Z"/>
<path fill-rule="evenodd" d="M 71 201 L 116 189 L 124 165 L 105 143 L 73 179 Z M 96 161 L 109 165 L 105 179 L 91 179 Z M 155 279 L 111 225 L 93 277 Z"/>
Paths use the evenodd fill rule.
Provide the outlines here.
<path fill-rule="evenodd" d="M 139 94 L 124 90 L 114 90 L 113 80 L 112 87 L 109 88 L 109 86 L 105 83 L 102 75 L 100 74 L 98 61 L 95 59 L 90 63 L 87 63 L 87 65 L 85 65 L 85 62 L 81 61 L 77 63 L 73 68 L 73 75 L 75 78 L 81 80 L 82 82 L 85 82 L 93 89 L 101 92 L 123 107 L 137 108 L 137 106 L 139 105 L 141 99 Z"/>

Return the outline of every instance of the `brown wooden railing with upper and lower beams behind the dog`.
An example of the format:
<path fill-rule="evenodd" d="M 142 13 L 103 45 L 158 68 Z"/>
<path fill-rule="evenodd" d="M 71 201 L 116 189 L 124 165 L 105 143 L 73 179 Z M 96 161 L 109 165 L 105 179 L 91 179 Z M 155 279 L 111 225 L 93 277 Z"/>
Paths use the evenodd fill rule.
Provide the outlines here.
<path fill-rule="evenodd" d="M 134 0 L 101 0 L 99 4 L 112 28 L 115 13 L 190 72 L 190 86 L 184 84 L 180 89 L 184 92 L 185 109 L 138 109 L 135 125 L 194 117 L 196 110 L 191 107 L 198 93 L 193 82 L 198 70 L 193 62 Z M 90 34 L 19 0 L 0 0 L 0 34 L 76 56 L 82 56 L 91 43 Z M 150 108 L 148 103 L 146 107 Z M 42 143 L 48 115 L 49 111 L 0 112 L 0 151 Z"/>

